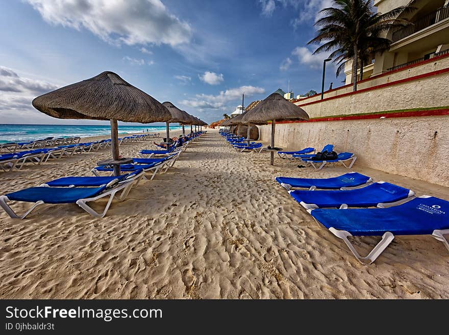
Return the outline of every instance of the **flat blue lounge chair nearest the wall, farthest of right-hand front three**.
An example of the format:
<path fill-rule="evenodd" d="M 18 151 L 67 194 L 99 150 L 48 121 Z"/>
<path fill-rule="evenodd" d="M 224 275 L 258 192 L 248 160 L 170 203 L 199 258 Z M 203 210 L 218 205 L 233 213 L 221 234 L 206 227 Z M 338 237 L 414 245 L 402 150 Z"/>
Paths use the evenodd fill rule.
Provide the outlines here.
<path fill-rule="evenodd" d="M 372 179 L 358 172 L 349 172 L 332 178 L 276 177 L 276 181 L 287 191 L 290 191 L 292 188 L 303 188 L 313 191 L 315 189 L 347 190 L 369 184 L 372 182 Z"/>

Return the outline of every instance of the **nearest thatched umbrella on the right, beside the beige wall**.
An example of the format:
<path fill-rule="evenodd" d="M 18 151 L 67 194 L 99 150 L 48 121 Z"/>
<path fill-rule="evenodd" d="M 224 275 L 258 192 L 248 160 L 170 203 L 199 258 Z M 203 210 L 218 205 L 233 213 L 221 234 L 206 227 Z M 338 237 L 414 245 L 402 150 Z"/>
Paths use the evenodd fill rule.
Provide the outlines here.
<path fill-rule="evenodd" d="M 243 123 L 267 124 L 271 121 L 271 148 L 275 147 L 276 120 L 309 120 L 309 115 L 301 108 L 284 99 L 278 93 L 272 93 L 260 102 L 252 110 L 248 111 L 243 118 Z M 274 164 L 275 152 L 270 151 L 270 164 Z"/>

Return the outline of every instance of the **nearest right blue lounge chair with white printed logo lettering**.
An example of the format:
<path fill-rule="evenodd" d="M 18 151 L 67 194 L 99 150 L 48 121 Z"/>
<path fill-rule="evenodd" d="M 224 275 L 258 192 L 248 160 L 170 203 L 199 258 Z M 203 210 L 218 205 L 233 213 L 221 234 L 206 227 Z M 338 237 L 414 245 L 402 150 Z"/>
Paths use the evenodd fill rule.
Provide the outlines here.
<path fill-rule="evenodd" d="M 423 195 L 392 207 L 381 209 L 313 209 L 308 212 L 315 220 L 342 239 L 357 260 L 371 264 L 393 241 L 394 235 L 432 235 L 449 243 L 444 235 L 449 234 L 449 201 Z M 361 256 L 348 236 L 382 236 L 382 240 L 368 253 Z"/>

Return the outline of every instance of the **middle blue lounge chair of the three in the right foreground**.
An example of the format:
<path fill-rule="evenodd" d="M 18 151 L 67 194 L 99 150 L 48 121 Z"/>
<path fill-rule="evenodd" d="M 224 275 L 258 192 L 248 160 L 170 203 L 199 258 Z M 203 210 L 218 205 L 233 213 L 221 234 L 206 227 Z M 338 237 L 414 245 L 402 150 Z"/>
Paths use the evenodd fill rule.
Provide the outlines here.
<path fill-rule="evenodd" d="M 375 207 L 379 203 L 397 202 L 415 195 L 409 189 L 385 182 L 353 190 L 290 190 L 288 193 L 305 209 Z"/>

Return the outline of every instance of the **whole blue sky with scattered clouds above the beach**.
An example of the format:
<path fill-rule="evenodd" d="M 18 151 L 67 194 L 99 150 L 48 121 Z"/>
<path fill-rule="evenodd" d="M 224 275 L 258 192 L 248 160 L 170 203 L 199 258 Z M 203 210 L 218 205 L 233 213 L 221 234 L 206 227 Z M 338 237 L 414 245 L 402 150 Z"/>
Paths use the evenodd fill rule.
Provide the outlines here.
<path fill-rule="evenodd" d="M 22 0 L 0 5 L 0 123 L 101 124 L 46 116 L 31 100 L 114 71 L 206 122 L 278 88 L 321 87 L 307 42 L 331 0 Z M 325 88 L 340 86 L 328 68 Z"/>

